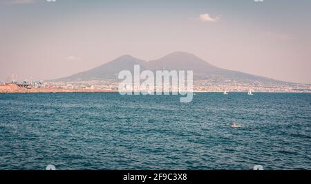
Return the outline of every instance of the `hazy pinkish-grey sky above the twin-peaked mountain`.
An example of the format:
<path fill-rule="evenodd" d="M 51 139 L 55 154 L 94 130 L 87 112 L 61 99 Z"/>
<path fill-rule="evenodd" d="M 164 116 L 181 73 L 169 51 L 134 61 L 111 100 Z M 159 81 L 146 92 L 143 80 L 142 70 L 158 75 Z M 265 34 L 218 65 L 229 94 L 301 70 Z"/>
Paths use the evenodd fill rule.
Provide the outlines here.
<path fill-rule="evenodd" d="M 0 1 L 0 80 L 53 79 L 120 55 L 173 51 L 311 84 L 311 1 Z"/>

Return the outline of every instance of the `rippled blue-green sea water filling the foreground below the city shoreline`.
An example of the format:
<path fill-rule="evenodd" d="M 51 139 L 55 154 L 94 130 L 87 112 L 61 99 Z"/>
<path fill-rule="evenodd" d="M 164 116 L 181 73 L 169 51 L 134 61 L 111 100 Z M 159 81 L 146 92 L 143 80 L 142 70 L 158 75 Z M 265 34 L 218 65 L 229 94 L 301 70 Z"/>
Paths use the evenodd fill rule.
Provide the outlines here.
<path fill-rule="evenodd" d="M 311 169 L 310 93 L 179 98 L 0 94 L 0 169 Z"/>

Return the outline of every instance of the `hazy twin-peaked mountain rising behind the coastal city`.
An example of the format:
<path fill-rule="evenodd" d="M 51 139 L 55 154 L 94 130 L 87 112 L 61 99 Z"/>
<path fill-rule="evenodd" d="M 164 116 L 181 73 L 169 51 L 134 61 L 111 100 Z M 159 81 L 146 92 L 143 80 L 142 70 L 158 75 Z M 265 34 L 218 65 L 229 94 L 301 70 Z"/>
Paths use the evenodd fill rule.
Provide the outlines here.
<path fill-rule="evenodd" d="M 122 70 L 129 70 L 133 73 L 133 65 L 139 64 L 140 70 L 184 70 L 194 71 L 194 80 L 211 80 L 214 82 L 237 81 L 237 82 L 261 82 L 261 83 L 283 83 L 281 81 L 272 80 L 267 77 L 251 75 L 238 71 L 230 71 L 223 68 L 213 66 L 208 62 L 196 57 L 191 53 L 174 52 L 160 59 L 146 62 L 142 59 L 137 59 L 131 55 L 123 55 L 114 59 L 111 62 L 93 68 L 89 71 L 77 73 L 53 82 L 77 82 L 88 80 L 105 80 L 117 79 L 117 74 Z"/>

